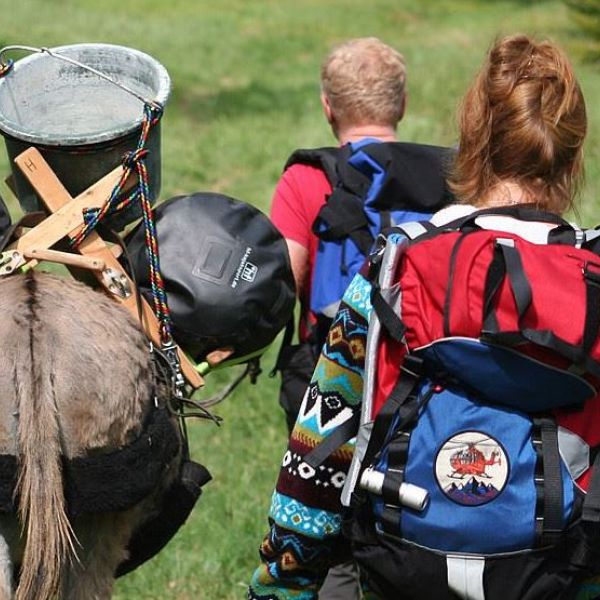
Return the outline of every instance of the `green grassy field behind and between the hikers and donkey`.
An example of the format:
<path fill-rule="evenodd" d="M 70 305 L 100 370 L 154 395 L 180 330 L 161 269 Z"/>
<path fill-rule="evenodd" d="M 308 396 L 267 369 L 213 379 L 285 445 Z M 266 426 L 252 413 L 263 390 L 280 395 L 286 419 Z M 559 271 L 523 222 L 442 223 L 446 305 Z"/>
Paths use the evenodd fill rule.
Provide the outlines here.
<path fill-rule="evenodd" d="M 494 37 L 551 37 L 571 54 L 586 95 L 580 217 L 586 225 L 600 222 L 600 71 L 584 60 L 585 40 L 561 2 L 0 0 L 0 6 L 2 46 L 110 42 L 156 57 L 173 82 L 163 119 L 161 199 L 212 190 L 264 211 L 293 149 L 334 142 L 318 102 L 319 65 L 332 44 L 375 35 L 399 48 L 409 68 L 400 137 L 453 144 L 457 103 Z M 0 174 L 9 170 L 1 154 Z M 272 350 L 265 371 L 273 360 Z M 203 394 L 222 380 L 211 378 Z M 277 384 L 263 374 L 256 386 L 243 385 L 217 409 L 220 429 L 190 424 L 192 456 L 214 480 L 168 548 L 118 581 L 118 600 L 244 597 L 285 446 Z"/>

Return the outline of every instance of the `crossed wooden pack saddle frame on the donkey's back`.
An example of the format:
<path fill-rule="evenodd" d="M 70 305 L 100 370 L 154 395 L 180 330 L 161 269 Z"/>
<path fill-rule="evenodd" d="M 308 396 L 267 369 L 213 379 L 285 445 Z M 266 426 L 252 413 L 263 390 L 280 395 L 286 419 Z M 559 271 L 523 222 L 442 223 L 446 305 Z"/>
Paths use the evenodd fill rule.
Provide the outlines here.
<path fill-rule="evenodd" d="M 100 208 L 110 196 L 123 173 L 119 166 L 98 180 L 76 198 L 71 197 L 62 182 L 44 160 L 36 148 L 28 148 L 15 158 L 15 163 L 23 172 L 50 215 L 39 225 L 25 232 L 5 252 L 15 251 L 22 257 L 19 266 L 34 266 L 39 260 L 54 260 L 71 267 L 90 269 L 98 282 L 116 301 L 138 318 L 137 289 L 125 272 L 110 246 L 93 231 L 77 248 L 81 255 L 50 250 L 59 240 L 73 238 L 84 225 L 83 211 L 86 208 Z M 159 323 L 154 311 L 140 296 L 142 327 L 158 348 L 161 345 Z M 199 388 L 204 381 L 187 355 L 177 348 L 181 371 L 193 388 Z"/>

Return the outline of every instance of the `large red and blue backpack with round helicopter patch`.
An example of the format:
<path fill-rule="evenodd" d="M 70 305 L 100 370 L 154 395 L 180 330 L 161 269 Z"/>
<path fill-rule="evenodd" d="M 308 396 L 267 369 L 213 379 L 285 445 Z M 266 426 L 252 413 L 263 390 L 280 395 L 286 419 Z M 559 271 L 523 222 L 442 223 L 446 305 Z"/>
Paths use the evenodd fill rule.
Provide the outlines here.
<path fill-rule="evenodd" d="M 533 243 L 490 215 L 555 227 Z M 599 233 L 521 206 L 372 255 L 344 499 L 381 597 L 568 598 L 600 572 Z"/>

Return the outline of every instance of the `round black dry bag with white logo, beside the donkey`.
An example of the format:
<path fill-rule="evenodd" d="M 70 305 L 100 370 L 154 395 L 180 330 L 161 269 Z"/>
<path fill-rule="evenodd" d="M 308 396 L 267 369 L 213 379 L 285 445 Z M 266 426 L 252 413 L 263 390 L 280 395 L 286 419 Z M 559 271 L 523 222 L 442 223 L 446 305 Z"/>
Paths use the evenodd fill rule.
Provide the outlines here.
<path fill-rule="evenodd" d="M 196 361 L 233 347 L 259 354 L 291 318 L 295 287 L 285 240 L 255 207 L 222 194 L 177 196 L 155 209 L 160 267 L 177 343 Z M 152 302 L 143 225 L 126 239 Z"/>

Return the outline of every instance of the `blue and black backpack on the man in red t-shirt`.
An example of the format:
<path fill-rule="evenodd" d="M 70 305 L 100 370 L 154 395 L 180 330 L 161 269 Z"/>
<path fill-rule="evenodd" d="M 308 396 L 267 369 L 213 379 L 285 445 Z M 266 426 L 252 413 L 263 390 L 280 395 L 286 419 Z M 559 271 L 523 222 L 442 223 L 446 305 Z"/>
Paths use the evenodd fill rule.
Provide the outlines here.
<path fill-rule="evenodd" d="M 313 224 L 320 243 L 311 310 L 318 319 L 325 317 L 329 324 L 382 229 L 429 219 L 450 202 L 449 159 L 448 148 L 372 138 L 292 154 L 286 169 L 294 163 L 317 166 L 333 190 Z"/>

